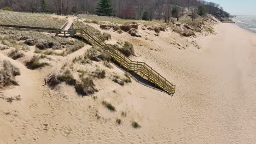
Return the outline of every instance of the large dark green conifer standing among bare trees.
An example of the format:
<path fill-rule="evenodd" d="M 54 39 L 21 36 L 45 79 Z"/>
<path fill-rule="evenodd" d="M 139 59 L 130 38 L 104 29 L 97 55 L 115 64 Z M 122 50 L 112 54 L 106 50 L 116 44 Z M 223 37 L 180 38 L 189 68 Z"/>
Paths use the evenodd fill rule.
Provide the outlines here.
<path fill-rule="evenodd" d="M 111 0 L 100 0 L 97 7 L 97 15 L 111 16 L 112 15 Z"/>

